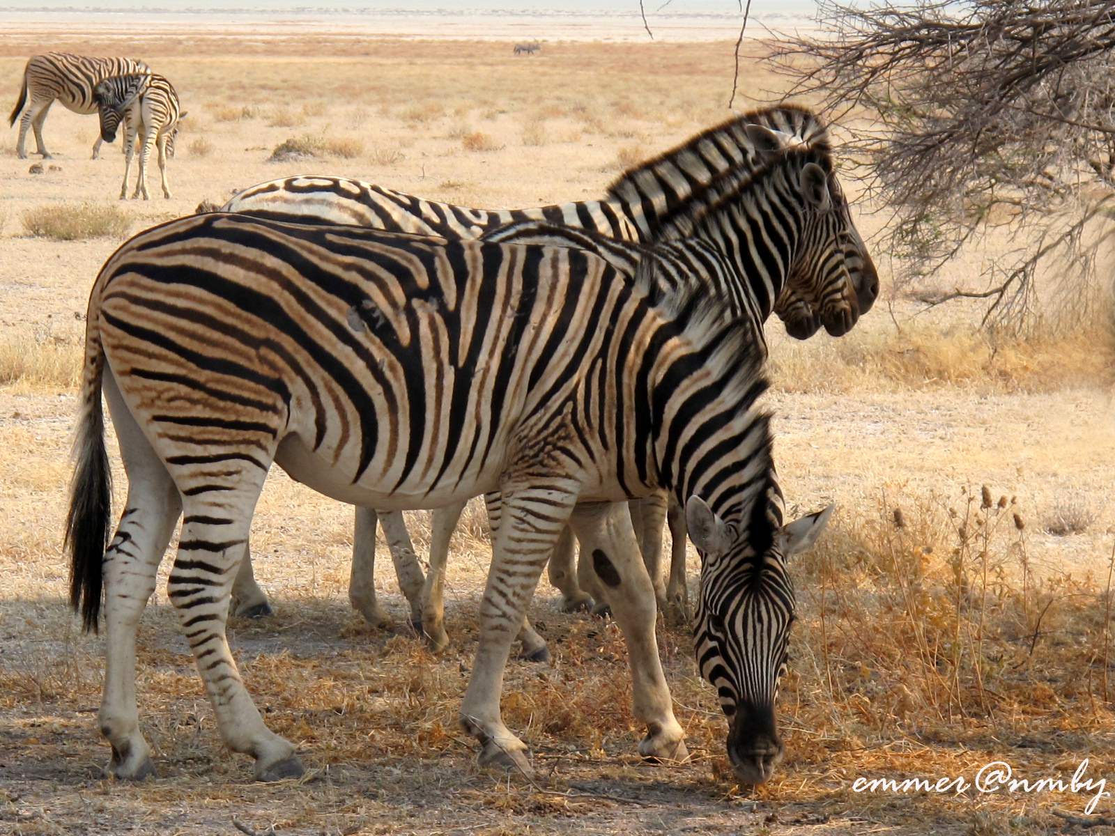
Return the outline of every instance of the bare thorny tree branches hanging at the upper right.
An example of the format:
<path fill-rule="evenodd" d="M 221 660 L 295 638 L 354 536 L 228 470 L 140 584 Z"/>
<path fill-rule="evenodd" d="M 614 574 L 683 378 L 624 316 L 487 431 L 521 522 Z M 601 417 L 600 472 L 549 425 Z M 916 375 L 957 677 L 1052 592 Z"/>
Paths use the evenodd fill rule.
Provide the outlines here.
<path fill-rule="evenodd" d="M 1115 194 L 1115 0 L 865 7 L 820 0 L 822 33 L 774 51 L 794 91 L 855 133 L 870 193 L 896 213 L 883 246 L 924 275 L 1014 231 L 1014 261 L 949 295 L 990 300 L 985 321 L 999 327 L 1021 327 L 1054 260 L 1095 280 Z"/>

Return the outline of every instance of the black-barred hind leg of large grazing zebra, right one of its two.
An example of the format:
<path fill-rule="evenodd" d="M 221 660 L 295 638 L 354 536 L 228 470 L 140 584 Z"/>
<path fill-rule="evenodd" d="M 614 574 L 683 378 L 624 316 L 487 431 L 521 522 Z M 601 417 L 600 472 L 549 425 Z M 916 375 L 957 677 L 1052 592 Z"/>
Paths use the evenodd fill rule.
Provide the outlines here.
<path fill-rule="evenodd" d="M 256 475 L 258 479 L 252 478 Z M 302 775 L 302 762 L 289 741 L 264 726 L 241 680 L 225 633 L 232 577 L 248 543 L 264 475 L 265 470 L 241 472 L 239 478 L 224 484 L 203 475 L 210 484 L 184 492 L 178 554 L 166 591 L 194 652 L 225 746 L 251 755 L 255 779 L 269 781 Z"/>

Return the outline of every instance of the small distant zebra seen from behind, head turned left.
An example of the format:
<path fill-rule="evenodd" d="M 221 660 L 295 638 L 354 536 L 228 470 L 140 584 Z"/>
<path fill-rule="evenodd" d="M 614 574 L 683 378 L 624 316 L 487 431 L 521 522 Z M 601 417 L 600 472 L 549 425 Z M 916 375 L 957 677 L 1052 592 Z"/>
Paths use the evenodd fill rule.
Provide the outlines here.
<path fill-rule="evenodd" d="M 166 161 L 174 156 L 174 137 L 178 133 L 178 121 L 185 116 L 178 107 L 178 94 L 163 76 L 156 74 L 133 74 L 114 76 L 100 81 L 94 88 L 93 97 L 100 114 L 100 137 L 106 143 L 116 139 L 116 132 L 125 125 L 124 183 L 120 200 L 128 195 L 128 173 L 136 140 L 143 143 L 139 152 L 139 176 L 133 200 L 147 193 L 147 161 L 153 147 L 158 148 L 158 169 L 163 175 L 163 196 L 171 196 L 171 185 L 166 181 Z"/>

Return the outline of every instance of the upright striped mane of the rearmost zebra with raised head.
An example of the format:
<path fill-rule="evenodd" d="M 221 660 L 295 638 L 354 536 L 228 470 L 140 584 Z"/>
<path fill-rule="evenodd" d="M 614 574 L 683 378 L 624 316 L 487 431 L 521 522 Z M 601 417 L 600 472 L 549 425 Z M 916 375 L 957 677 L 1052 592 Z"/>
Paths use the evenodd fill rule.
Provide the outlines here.
<path fill-rule="evenodd" d="M 759 108 L 708 128 L 653 159 L 629 168 L 612 182 L 605 197 L 621 203 L 638 201 L 643 183 L 653 183 L 658 178 L 669 182 L 679 177 L 696 181 L 694 189 L 699 193 L 709 185 L 705 177 L 715 182 L 733 171 L 752 171 L 754 166 L 746 163 L 752 159 L 760 161 L 763 155 L 747 135 L 748 125 L 778 132 L 786 148 L 831 152 L 828 132 L 812 110 L 797 105 Z M 737 164 L 726 172 L 710 173 L 707 161 L 724 157 L 737 159 Z"/>

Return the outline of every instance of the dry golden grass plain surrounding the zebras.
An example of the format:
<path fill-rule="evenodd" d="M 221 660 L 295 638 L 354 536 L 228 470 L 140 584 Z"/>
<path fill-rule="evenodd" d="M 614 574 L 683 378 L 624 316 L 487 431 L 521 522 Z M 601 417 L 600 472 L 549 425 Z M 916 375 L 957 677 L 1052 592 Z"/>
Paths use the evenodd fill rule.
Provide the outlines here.
<path fill-rule="evenodd" d="M 487 570 L 483 511 L 469 508 L 453 542 L 452 643 L 433 654 L 406 626 L 382 544 L 377 587 L 398 628 L 372 629 L 349 609 L 350 509 L 278 468 L 252 532 L 277 614 L 233 618 L 230 636 L 269 727 L 299 745 L 308 776 L 254 784 L 246 759 L 222 749 L 161 589 L 138 662 L 159 777 L 107 780 L 103 647 L 67 607 L 61 539 L 85 303 L 113 250 L 203 200 L 299 173 L 483 207 L 594 197 L 628 166 L 729 117 L 733 66 L 728 42 L 543 42 L 515 57 L 500 41 L 124 36 L 9 28 L 0 42 L 9 106 L 28 56 L 62 49 L 142 58 L 188 111 L 171 200 L 116 200 L 123 158 L 117 146 L 88 158 L 93 116 L 54 108 L 55 159 L 38 174 L 33 156 L 16 156 L 17 130 L 3 135 L 0 833 L 991 836 L 1059 832 L 1068 825 L 1056 814 L 1084 817 L 1096 789 L 982 793 L 987 764 L 1067 786 L 1087 759 L 1084 777 L 1115 780 L 1109 320 L 1066 327 L 1050 315 L 1021 337 L 989 336 L 975 307 L 919 301 L 980 289 L 1006 240 L 923 281 L 895 281 L 902 264 L 876 249 L 882 295 L 838 340 L 795 342 L 768 327 L 791 511 L 837 507 L 793 566 L 786 759 L 769 784 L 736 785 L 689 632 L 668 623 L 663 662 L 692 759 L 640 762 L 618 631 L 559 613 L 545 581 L 531 616 L 554 659 L 513 660 L 503 703 L 537 777 L 478 769 L 456 717 Z M 763 56 L 759 43 L 745 49 L 745 108 L 787 85 Z M 876 240 L 885 207 L 860 196 L 854 161 L 842 171 L 860 229 Z M 1050 280 L 1072 292 L 1073 276 Z M 408 517 L 421 551 L 426 515 Z M 690 597 L 696 568 L 691 553 Z M 854 789 L 857 778 L 958 776 L 970 785 L 959 793 Z M 1113 808 L 1101 797 L 1089 813 Z"/>

